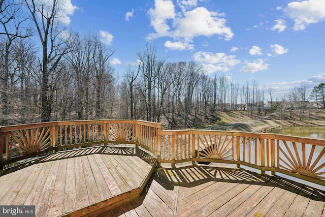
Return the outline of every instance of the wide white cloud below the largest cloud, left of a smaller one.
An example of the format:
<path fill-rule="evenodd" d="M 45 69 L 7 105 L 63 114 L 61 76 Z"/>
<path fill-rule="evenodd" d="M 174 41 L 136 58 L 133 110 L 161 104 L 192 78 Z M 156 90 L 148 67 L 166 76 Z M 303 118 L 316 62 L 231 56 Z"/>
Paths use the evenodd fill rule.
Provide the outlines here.
<path fill-rule="evenodd" d="M 202 63 L 208 74 L 216 71 L 228 72 L 229 67 L 240 64 L 240 60 L 235 55 L 226 55 L 225 53 L 211 53 L 199 51 L 194 53 L 195 61 Z"/>

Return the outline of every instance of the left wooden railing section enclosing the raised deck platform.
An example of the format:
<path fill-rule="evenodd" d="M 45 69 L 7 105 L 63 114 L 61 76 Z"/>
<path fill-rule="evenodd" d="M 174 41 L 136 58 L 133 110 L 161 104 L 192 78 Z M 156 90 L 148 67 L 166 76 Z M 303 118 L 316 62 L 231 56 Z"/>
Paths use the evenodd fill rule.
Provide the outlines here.
<path fill-rule="evenodd" d="M 50 151 L 107 143 L 137 144 L 158 154 L 160 123 L 142 120 L 56 121 L 0 127 L 0 167 Z"/>

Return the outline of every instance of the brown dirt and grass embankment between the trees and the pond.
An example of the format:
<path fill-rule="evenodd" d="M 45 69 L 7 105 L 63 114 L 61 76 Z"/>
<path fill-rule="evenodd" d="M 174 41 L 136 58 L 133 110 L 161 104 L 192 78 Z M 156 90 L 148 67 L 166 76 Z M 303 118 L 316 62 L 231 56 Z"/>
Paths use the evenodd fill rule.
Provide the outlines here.
<path fill-rule="evenodd" d="M 297 112 L 298 113 L 298 112 Z M 279 127 L 293 126 L 325 126 L 325 109 L 311 109 L 304 112 L 300 120 L 300 113 L 295 114 L 295 120 L 288 113 L 280 118 L 278 113 L 252 114 L 249 111 L 218 112 L 220 121 L 209 126 L 211 130 L 232 130 L 245 132 L 268 132 Z"/>

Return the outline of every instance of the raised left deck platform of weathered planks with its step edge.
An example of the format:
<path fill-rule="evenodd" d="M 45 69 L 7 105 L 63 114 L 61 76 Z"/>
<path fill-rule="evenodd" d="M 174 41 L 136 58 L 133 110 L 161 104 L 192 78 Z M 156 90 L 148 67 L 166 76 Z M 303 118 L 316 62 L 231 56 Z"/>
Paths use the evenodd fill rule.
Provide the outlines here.
<path fill-rule="evenodd" d="M 60 151 L 5 170 L 0 204 L 35 205 L 42 217 L 80 216 L 139 197 L 154 160 L 126 145 Z"/>

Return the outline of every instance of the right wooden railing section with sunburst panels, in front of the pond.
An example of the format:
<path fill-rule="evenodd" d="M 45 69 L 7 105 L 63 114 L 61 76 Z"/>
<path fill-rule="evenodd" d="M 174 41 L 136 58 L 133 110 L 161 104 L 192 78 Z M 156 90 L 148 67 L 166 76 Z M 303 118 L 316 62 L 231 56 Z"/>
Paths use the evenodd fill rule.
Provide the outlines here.
<path fill-rule="evenodd" d="M 287 174 L 325 185 L 325 140 L 266 133 L 158 131 L 160 159 L 217 162 Z"/>

